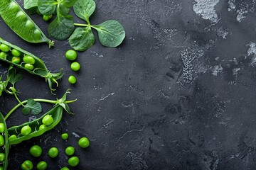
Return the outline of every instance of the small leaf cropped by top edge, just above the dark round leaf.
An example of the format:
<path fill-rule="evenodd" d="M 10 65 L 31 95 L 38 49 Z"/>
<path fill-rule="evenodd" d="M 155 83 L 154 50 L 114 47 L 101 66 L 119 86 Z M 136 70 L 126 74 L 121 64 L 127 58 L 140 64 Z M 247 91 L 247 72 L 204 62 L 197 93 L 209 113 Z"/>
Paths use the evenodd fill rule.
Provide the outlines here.
<path fill-rule="evenodd" d="M 53 14 L 57 5 L 54 0 L 38 0 L 38 10 L 46 16 Z"/>

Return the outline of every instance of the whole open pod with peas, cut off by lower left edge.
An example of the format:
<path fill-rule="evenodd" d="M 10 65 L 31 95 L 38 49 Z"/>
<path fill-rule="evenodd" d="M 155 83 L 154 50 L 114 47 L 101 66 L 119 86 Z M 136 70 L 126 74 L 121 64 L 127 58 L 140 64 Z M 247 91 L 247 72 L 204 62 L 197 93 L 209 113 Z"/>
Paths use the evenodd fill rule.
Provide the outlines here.
<path fill-rule="evenodd" d="M 0 113 L 0 154 L 4 154 L 4 160 L 0 160 L 0 166 L 4 170 L 8 167 L 8 154 L 9 154 L 9 141 L 8 141 L 8 130 L 4 116 Z M 0 169 L 1 169 L 0 168 Z"/>

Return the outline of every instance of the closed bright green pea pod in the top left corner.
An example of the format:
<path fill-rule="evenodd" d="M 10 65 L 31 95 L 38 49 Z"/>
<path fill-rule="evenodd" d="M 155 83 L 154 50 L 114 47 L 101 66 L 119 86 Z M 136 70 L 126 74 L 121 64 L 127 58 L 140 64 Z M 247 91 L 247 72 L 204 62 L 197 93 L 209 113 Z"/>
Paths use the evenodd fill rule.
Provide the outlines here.
<path fill-rule="evenodd" d="M 42 30 L 14 0 L 1 0 L 0 16 L 4 22 L 23 40 L 31 43 L 47 42 L 53 46 Z"/>

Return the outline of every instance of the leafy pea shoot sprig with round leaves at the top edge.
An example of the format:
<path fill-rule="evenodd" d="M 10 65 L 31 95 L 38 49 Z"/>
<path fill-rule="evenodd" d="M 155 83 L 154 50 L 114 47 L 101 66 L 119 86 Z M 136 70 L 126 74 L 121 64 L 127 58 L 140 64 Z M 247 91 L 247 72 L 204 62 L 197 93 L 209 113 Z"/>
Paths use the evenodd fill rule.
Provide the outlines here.
<path fill-rule="evenodd" d="M 86 23 L 74 23 L 73 16 L 69 14 L 72 6 L 75 15 Z M 57 40 L 68 39 L 70 46 L 78 51 L 85 51 L 94 45 L 92 28 L 97 30 L 105 47 L 117 47 L 125 38 L 124 28 L 118 21 L 110 20 L 98 25 L 90 23 L 90 16 L 96 8 L 93 0 L 24 0 L 24 8 L 30 11 L 38 9 L 38 13 L 49 19 L 56 14 L 48 26 L 48 34 Z M 78 28 L 75 29 L 75 26 Z"/>

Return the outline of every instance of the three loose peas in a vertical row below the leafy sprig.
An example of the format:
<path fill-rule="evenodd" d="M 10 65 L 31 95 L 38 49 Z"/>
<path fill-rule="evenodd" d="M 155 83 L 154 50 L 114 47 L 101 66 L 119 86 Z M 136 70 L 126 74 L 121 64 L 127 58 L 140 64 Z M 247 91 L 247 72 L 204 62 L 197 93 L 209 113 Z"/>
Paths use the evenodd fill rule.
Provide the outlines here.
<path fill-rule="evenodd" d="M 74 61 L 78 57 L 78 54 L 77 52 L 75 52 L 75 50 L 68 50 L 67 52 L 65 52 L 65 57 L 70 61 Z M 71 63 L 70 67 L 73 71 L 78 72 L 78 70 L 80 69 L 80 64 L 79 62 L 73 62 Z M 68 82 L 70 82 L 70 84 L 75 84 L 76 81 L 77 79 L 75 78 L 75 76 L 71 75 L 70 77 L 68 77 Z"/>

